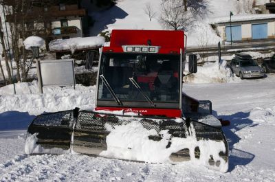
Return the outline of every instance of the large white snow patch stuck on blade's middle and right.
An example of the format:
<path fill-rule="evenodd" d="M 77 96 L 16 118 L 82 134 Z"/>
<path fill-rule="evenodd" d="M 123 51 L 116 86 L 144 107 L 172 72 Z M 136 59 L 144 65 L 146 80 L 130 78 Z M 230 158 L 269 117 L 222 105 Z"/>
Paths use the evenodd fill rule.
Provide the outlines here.
<path fill-rule="evenodd" d="M 182 120 L 181 120 L 182 122 Z M 137 120 L 129 124 L 114 126 L 114 129 L 105 124 L 107 130 L 110 131 L 107 135 L 106 143 L 107 150 L 102 151 L 100 156 L 127 159 L 133 161 L 146 161 L 150 163 L 179 163 L 170 160 L 170 155 L 179 150 L 188 148 L 190 151 L 190 161 L 205 166 L 209 166 L 210 156 L 214 161 L 220 161 L 219 167 L 209 166 L 221 172 L 228 170 L 228 163 L 219 157 L 219 152 L 225 152 L 225 146 L 222 141 L 197 141 L 194 135 L 186 138 L 172 137 L 168 130 L 162 130 L 159 134 L 162 135 L 160 141 L 149 139 L 149 136 L 156 136 L 155 129 L 146 130 L 144 126 Z M 192 133 L 195 133 L 193 131 Z M 171 142 L 169 148 L 166 148 L 168 142 Z M 195 158 L 195 148 L 199 147 L 201 154 L 199 159 Z"/>

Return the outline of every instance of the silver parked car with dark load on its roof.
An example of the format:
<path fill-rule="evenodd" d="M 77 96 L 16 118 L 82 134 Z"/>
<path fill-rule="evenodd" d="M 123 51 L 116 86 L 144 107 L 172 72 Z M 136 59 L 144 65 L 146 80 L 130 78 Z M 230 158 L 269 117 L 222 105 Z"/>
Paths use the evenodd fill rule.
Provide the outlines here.
<path fill-rule="evenodd" d="M 230 69 L 236 76 L 243 78 L 260 78 L 265 75 L 263 68 L 249 54 L 235 54 L 230 62 Z"/>

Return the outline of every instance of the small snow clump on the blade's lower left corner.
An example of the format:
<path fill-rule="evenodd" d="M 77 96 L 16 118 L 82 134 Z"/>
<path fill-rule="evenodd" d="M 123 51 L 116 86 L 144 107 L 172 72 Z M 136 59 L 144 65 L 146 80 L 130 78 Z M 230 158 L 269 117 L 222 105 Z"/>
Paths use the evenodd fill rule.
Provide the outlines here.
<path fill-rule="evenodd" d="M 65 154 L 69 153 L 69 150 L 63 150 L 62 148 L 51 148 L 51 149 L 46 149 L 43 148 L 40 145 L 37 145 L 36 142 L 39 140 L 37 138 L 37 135 L 39 133 L 34 133 L 31 135 L 30 133 L 27 134 L 27 139 L 25 142 L 25 154 L 30 155 L 30 154 Z"/>

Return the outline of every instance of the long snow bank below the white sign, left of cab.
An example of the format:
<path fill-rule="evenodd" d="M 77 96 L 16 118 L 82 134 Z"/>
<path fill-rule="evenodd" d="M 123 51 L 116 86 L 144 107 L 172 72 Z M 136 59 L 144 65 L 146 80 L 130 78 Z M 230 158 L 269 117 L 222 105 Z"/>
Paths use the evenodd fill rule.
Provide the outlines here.
<path fill-rule="evenodd" d="M 12 84 L 0 88 L 0 113 L 5 111 L 28 112 L 39 115 L 43 112 L 56 112 L 80 107 L 94 109 L 95 86 L 84 87 L 44 87 L 39 93 L 37 82 L 22 82 L 15 85 L 17 94 L 13 94 Z"/>

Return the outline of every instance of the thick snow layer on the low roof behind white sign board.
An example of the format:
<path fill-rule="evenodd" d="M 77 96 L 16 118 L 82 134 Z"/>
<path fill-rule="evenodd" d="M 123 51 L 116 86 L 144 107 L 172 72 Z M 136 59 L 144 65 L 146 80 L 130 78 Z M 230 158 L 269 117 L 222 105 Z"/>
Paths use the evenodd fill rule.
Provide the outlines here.
<path fill-rule="evenodd" d="M 50 51 L 74 51 L 76 49 L 87 49 L 101 47 L 105 43 L 102 36 L 77 37 L 69 39 L 56 39 L 49 43 Z"/>

